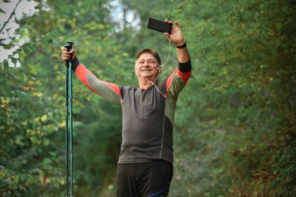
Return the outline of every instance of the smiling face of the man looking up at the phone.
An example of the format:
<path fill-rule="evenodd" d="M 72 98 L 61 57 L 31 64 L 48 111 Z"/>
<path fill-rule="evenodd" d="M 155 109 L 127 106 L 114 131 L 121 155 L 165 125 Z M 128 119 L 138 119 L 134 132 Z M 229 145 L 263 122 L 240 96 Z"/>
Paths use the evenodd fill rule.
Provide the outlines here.
<path fill-rule="evenodd" d="M 134 71 L 138 77 L 153 79 L 159 74 L 158 67 L 156 58 L 150 53 L 144 53 L 136 60 Z"/>

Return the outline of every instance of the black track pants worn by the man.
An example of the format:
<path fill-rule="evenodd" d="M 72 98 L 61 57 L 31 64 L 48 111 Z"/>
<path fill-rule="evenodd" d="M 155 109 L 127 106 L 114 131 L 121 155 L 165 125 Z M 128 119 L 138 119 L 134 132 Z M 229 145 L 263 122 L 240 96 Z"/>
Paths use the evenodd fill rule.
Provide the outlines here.
<path fill-rule="evenodd" d="M 166 197 L 172 177 L 173 167 L 164 160 L 118 164 L 117 197 Z"/>

